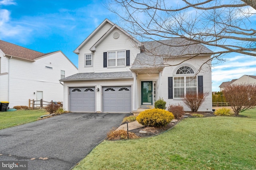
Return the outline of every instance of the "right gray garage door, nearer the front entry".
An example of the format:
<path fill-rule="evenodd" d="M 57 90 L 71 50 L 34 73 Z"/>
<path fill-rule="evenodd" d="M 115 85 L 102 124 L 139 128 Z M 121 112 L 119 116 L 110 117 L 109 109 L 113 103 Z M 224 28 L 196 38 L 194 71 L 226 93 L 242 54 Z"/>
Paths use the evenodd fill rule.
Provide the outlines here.
<path fill-rule="evenodd" d="M 103 112 L 132 112 L 131 86 L 102 87 Z"/>

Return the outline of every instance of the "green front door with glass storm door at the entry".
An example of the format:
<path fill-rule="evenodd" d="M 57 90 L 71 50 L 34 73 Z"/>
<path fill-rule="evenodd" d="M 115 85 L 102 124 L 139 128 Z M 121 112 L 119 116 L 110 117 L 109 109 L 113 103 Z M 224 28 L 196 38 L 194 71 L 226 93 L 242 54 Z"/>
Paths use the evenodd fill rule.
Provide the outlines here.
<path fill-rule="evenodd" d="M 152 105 L 152 82 L 141 82 L 141 104 Z"/>

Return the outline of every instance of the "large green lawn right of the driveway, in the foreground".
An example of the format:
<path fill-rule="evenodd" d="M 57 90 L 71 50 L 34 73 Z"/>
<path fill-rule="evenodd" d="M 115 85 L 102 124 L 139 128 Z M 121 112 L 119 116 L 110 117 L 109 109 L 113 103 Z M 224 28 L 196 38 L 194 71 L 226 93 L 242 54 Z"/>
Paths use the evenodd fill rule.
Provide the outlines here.
<path fill-rule="evenodd" d="M 104 141 L 74 170 L 255 170 L 256 109 L 247 117 L 186 118 L 142 139 Z"/>

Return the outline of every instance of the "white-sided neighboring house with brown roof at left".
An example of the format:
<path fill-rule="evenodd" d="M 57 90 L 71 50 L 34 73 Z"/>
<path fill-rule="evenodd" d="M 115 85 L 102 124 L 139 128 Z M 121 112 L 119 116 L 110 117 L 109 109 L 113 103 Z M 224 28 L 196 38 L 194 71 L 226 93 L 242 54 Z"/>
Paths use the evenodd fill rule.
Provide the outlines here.
<path fill-rule="evenodd" d="M 78 73 L 62 53 L 40 53 L 0 40 L 0 101 L 9 107 L 28 106 L 28 100 L 63 102 L 60 79 Z"/>

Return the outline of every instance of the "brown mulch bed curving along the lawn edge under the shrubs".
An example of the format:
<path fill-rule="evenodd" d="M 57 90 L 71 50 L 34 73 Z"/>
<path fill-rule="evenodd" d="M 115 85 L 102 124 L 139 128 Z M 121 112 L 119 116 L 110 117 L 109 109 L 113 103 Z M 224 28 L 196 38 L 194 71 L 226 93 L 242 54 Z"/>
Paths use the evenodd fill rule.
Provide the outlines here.
<path fill-rule="evenodd" d="M 206 112 L 198 111 L 197 113 L 204 115 L 204 117 L 215 116 L 213 114 L 214 112 L 212 112 L 212 111 L 206 111 Z M 186 111 L 186 114 L 184 114 L 184 115 L 187 115 L 188 117 L 193 117 L 191 111 Z M 176 120 L 178 120 L 177 122 L 169 123 L 168 125 L 166 125 L 164 127 L 141 127 L 141 128 L 138 128 L 138 129 L 130 130 L 129 132 L 135 133 L 139 137 L 151 137 L 151 136 L 159 135 L 160 133 L 163 133 L 163 132 L 171 129 L 172 127 L 174 127 L 182 119 L 186 119 L 188 117 L 178 118 L 178 119 L 176 119 Z M 140 131 L 146 131 L 147 133 L 140 133 Z"/>

